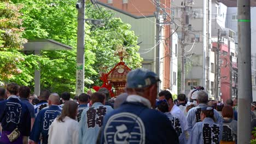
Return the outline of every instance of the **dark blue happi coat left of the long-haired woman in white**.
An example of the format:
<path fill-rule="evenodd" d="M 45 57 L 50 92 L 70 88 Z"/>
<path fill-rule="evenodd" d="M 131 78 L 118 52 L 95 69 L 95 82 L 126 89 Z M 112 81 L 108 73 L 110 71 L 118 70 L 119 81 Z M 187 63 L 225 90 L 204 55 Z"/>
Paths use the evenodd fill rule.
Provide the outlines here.
<path fill-rule="evenodd" d="M 48 108 L 40 110 L 34 121 L 30 139 L 39 142 L 40 134 L 42 134 L 43 143 L 48 143 L 48 131 L 54 119 L 61 114 L 61 109 L 58 105 L 51 105 Z M 60 131 L 61 133 L 61 131 Z"/>

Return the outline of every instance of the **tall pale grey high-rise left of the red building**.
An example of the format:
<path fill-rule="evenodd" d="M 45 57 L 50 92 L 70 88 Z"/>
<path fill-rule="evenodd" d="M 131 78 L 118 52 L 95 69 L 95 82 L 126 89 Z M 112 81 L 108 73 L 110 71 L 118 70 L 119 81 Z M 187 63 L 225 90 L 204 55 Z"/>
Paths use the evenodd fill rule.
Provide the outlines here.
<path fill-rule="evenodd" d="M 178 24 L 179 39 L 182 38 L 182 9 L 184 2 L 190 3 L 188 8 L 185 37 L 185 94 L 195 86 L 203 86 L 214 95 L 214 73 L 211 73 L 211 64 L 214 64 L 214 52 L 211 51 L 211 1 L 172 1 L 174 21 Z M 181 3 L 183 5 L 181 5 Z M 182 47 L 178 45 L 179 65 L 181 65 Z M 194 43 L 195 42 L 195 43 Z"/>

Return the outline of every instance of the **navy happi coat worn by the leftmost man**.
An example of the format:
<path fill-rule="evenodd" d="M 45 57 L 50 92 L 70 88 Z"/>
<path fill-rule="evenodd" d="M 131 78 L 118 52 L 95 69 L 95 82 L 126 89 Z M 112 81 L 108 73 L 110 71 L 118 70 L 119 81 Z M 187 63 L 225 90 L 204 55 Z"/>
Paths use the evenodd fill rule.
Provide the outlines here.
<path fill-rule="evenodd" d="M 30 112 L 27 105 L 22 103 L 15 95 L 11 95 L 7 100 L 0 101 L 0 121 L 2 131 L 11 132 L 18 127 L 21 136 L 30 135 Z"/>

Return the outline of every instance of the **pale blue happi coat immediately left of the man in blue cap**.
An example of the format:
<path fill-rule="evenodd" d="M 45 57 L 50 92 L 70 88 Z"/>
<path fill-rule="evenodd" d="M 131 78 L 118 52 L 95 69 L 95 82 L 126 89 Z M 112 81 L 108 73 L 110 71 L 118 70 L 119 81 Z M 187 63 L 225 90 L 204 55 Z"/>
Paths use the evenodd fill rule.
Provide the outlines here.
<path fill-rule="evenodd" d="M 79 122 L 79 144 L 96 143 L 103 118 L 110 111 L 113 111 L 112 107 L 102 103 L 94 103 L 91 107 L 84 109 Z"/>

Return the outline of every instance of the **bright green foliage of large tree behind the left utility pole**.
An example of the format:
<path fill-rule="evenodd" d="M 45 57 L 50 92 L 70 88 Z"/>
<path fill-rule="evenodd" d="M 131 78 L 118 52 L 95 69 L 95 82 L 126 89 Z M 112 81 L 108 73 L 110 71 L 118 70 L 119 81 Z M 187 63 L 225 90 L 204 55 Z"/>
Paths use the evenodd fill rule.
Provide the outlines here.
<path fill-rule="evenodd" d="M 72 46 L 73 50 L 41 51 L 40 56 L 34 56 L 33 52 L 25 52 L 26 55 L 23 52 L 19 52 L 18 50 L 22 46 L 15 45 L 16 51 L 14 53 L 16 53 L 15 58 L 18 58 L 18 60 L 15 59 L 15 62 L 9 58 L 6 61 L 15 62 L 16 67 L 20 68 L 21 71 L 18 70 L 19 73 L 13 72 L 12 77 L 8 77 L 8 80 L 33 88 L 34 68 L 38 69 L 37 61 L 39 61 L 42 89 L 50 89 L 53 92 L 74 92 L 77 44 L 77 9 L 75 9 L 75 3 L 77 1 L 11 0 L 11 2 L 15 6 L 20 5 L 20 7 L 16 6 L 16 9 L 11 10 L 15 14 L 21 13 L 21 15 L 14 16 L 20 22 L 13 22 L 16 24 L 13 24 L 12 27 L 18 29 L 19 38 L 23 41 L 21 43 L 19 40 L 15 40 L 15 43 L 21 45 L 25 42 L 25 39 L 54 39 L 60 43 Z M 137 68 L 140 66 L 142 58 L 137 53 L 137 37 L 133 31 L 130 31 L 130 25 L 127 25 L 120 19 L 113 18 L 109 11 L 95 9 L 89 2 L 86 3 L 85 15 L 86 18 L 90 19 L 103 19 L 106 23 L 104 27 L 97 27 L 89 22 L 86 22 L 85 25 L 86 86 L 100 85 L 100 81 L 98 81 L 100 75 L 98 73 L 102 71 L 102 68 L 107 67 L 105 70 L 109 70 L 119 61 L 119 58 L 114 56 L 117 46 L 123 45 L 126 47 L 129 57 L 126 57 L 124 61 L 129 67 Z M 5 19 L 4 16 L 2 17 L 1 20 Z M 21 22 L 21 20 L 23 21 Z M 2 28 L 1 24 L 2 36 L 2 29 L 4 28 Z M 20 37 L 21 34 L 22 37 Z M 1 37 L 0 39 L 1 45 L 4 45 L 6 41 L 3 38 Z M 5 44 L 2 47 L 7 49 L 6 45 L 10 46 L 10 44 Z M 8 52 L 13 52 L 15 49 L 8 49 Z M 9 55 L 6 50 L 2 51 L 4 51 L 5 55 Z M 2 58 L 1 56 L 0 59 Z M 3 78 L 0 77 L 0 80 L 3 80 Z"/>

